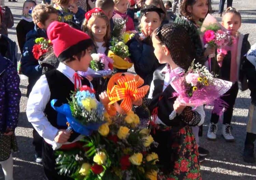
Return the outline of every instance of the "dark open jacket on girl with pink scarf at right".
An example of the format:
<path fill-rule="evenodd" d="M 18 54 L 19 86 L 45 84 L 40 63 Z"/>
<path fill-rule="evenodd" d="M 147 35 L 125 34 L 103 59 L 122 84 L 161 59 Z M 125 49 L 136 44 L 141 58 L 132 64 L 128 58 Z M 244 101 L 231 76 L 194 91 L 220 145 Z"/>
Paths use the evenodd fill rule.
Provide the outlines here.
<path fill-rule="evenodd" d="M 238 40 L 238 50 L 237 53 L 240 54 L 240 59 L 237 59 L 238 62 L 238 77 L 239 77 L 239 89 L 244 91 L 248 89 L 248 84 L 246 80 L 246 75 L 242 71 L 242 64 L 245 61 L 246 57 L 244 55 L 248 52 L 251 48 L 250 43 L 248 42 L 249 34 L 239 35 Z M 241 40 L 240 40 L 241 39 Z M 220 77 L 224 80 L 230 80 L 230 65 L 231 65 L 231 52 L 228 51 L 227 55 L 223 59 L 222 67 L 220 68 Z"/>

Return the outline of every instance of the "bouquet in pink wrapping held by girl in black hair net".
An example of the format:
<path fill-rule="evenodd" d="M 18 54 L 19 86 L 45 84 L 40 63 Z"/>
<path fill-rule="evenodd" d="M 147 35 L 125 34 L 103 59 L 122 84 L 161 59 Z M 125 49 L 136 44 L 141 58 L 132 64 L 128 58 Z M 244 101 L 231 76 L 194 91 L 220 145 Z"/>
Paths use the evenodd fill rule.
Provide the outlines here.
<path fill-rule="evenodd" d="M 179 101 L 185 106 L 198 107 L 214 104 L 214 113 L 222 114 L 228 104 L 219 97 L 227 92 L 232 83 L 215 78 L 205 66 L 192 62 L 186 73 L 176 77 L 171 86 L 176 91 Z"/>

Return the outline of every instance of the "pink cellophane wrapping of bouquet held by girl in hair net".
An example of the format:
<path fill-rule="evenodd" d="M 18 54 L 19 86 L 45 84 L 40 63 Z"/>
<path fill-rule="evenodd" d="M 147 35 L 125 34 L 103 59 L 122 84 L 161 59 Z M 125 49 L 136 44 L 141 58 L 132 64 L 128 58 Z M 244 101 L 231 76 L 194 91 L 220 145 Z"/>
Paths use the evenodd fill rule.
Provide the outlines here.
<path fill-rule="evenodd" d="M 232 86 L 232 83 L 226 80 L 213 78 L 213 83 L 209 86 L 204 86 L 200 90 L 194 91 L 189 97 L 184 86 L 185 77 L 176 77 L 171 86 L 176 91 L 173 96 L 177 96 L 179 101 L 184 106 L 198 107 L 201 105 L 213 105 L 213 112 L 221 115 L 223 108 L 228 104 L 219 97 L 226 93 Z"/>

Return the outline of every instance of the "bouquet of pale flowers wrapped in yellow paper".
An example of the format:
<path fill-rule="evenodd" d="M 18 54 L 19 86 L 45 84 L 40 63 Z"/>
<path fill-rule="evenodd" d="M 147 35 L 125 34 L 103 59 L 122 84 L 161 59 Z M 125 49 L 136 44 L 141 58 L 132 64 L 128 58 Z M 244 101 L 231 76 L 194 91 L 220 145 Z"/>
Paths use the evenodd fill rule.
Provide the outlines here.
<path fill-rule="evenodd" d="M 117 38 L 112 38 L 110 43 L 108 56 L 114 60 L 113 66 L 118 69 L 129 69 L 132 67 L 128 46 Z"/>

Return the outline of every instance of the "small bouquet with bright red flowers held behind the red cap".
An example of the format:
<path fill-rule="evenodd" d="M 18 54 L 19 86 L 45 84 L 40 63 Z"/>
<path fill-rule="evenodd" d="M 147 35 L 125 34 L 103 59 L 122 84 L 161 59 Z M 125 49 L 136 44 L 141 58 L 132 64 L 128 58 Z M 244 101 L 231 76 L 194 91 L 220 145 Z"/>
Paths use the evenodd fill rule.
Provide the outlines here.
<path fill-rule="evenodd" d="M 52 43 L 50 40 L 47 40 L 43 37 L 36 38 L 32 49 L 34 58 L 40 60 L 40 58 L 48 52 L 48 48 L 51 46 Z"/>

